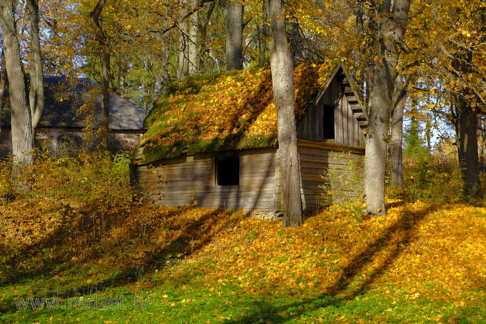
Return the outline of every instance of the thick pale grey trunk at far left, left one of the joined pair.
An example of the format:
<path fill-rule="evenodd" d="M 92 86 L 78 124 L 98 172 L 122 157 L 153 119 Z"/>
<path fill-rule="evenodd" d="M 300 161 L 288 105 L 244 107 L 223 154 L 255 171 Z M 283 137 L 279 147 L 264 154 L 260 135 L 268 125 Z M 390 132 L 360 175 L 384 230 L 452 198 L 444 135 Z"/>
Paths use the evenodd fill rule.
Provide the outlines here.
<path fill-rule="evenodd" d="M 12 112 L 14 162 L 32 164 L 32 119 L 25 85 L 25 73 L 20 60 L 13 2 L 11 0 L 0 0 L 0 10 L 5 67 L 7 69 Z"/>

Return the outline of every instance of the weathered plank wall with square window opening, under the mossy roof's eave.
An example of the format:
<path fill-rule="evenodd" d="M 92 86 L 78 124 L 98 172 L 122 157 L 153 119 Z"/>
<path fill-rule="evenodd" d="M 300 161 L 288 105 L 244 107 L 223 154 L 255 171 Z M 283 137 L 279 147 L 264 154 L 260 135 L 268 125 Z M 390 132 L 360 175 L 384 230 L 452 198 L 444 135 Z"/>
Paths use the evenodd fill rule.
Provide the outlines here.
<path fill-rule="evenodd" d="M 160 205 L 274 211 L 277 149 L 198 153 L 139 164 L 134 177 L 149 199 Z M 240 185 L 216 186 L 214 157 L 240 155 Z"/>

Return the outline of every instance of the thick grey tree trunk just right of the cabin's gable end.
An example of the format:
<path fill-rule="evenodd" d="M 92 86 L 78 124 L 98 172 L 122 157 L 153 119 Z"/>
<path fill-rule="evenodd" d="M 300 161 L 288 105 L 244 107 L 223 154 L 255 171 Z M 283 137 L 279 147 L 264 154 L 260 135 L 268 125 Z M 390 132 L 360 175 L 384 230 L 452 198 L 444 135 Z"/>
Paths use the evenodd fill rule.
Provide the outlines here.
<path fill-rule="evenodd" d="M 370 95 L 368 135 L 364 155 L 364 202 L 366 211 L 385 215 L 386 140 L 399 52 L 408 20 L 410 0 L 382 1 L 379 16 L 377 56 Z M 392 8 L 392 10 L 390 10 Z"/>

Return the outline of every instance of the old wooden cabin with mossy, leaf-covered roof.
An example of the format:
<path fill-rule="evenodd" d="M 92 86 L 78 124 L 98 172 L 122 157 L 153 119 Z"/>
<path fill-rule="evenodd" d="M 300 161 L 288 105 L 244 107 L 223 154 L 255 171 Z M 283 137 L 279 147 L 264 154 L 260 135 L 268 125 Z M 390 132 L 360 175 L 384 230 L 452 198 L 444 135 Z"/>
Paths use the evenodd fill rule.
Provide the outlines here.
<path fill-rule="evenodd" d="M 362 186 L 367 114 L 339 61 L 301 64 L 294 82 L 302 204 L 314 209 L 325 202 L 319 185 L 326 169 L 346 174 L 352 165 Z M 149 198 L 167 206 L 282 211 L 270 70 L 176 83 L 145 123 L 132 177 Z M 360 194 L 342 187 L 334 200 Z"/>

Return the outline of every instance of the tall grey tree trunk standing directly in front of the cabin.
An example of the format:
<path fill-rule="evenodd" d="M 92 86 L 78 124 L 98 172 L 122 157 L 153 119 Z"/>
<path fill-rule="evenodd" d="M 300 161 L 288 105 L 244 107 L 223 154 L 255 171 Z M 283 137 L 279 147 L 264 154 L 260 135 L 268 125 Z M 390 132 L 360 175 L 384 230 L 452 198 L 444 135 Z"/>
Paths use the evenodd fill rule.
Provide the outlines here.
<path fill-rule="evenodd" d="M 300 198 L 300 170 L 297 153 L 297 132 L 294 112 L 294 62 L 287 39 L 285 21 L 280 17 L 281 0 L 269 0 L 270 68 L 277 109 L 278 149 L 282 167 L 283 226 L 296 227 L 303 223 Z"/>

